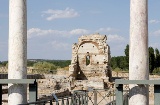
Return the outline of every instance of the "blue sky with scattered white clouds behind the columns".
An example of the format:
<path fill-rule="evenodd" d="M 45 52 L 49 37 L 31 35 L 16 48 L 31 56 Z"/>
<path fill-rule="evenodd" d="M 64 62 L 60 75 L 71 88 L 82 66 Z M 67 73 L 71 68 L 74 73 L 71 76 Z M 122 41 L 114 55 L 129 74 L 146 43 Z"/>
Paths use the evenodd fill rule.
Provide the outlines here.
<path fill-rule="evenodd" d="M 0 61 L 8 60 L 9 0 L 0 0 Z M 107 35 L 111 56 L 129 43 L 130 0 L 28 0 L 28 59 L 71 59 L 78 37 Z M 160 0 L 148 0 L 149 46 L 160 50 Z"/>

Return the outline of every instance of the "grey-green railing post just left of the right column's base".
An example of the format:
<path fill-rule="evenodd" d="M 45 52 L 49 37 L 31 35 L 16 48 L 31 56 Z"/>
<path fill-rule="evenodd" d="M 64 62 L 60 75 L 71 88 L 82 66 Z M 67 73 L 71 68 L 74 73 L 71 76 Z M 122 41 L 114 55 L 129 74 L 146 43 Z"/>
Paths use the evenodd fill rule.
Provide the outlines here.
<path fill-rule="evenodd" d="M 123 105 L 123 85 L 116 84 L 116 105 Z"/>

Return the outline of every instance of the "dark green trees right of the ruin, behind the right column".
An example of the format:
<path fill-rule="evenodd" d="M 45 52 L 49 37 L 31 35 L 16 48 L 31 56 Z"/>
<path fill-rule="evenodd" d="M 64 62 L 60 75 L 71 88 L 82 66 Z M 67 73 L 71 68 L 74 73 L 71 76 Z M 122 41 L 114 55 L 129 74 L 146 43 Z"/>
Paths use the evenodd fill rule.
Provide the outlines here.
<path fill-rule="evenodd" d="M 128 71 L 129 70 L 129 45 L 126 45 L 124 49 L 125 56 L 117 56 L 111 58 L 111 67 L 113 70 L 118 68 L 119 70 Z M 149 72 L 159 72 L 160 68 L 160 53 L 157 48 L 148 48 L 148 58 L 149 58 Z"/>

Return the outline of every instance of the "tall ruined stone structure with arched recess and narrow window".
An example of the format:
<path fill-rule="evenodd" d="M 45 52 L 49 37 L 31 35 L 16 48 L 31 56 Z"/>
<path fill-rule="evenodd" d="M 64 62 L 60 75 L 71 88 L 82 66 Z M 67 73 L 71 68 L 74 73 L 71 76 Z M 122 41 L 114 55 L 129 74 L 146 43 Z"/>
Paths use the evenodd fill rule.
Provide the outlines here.
<path fill-rule="evenodd" d="M 103 88 L 109 83 L 112 76 L 111 56 L 106 41 L 106 35 L 83 35 L 78 43 L 72 45 L 72 60 L 69 65 L 69 77 L 72 81 L 87 81 L 87 84 L 91 83 L 90 86 L 95 88 Z M 95 86 L 94 83 L 98 84 Z"/>

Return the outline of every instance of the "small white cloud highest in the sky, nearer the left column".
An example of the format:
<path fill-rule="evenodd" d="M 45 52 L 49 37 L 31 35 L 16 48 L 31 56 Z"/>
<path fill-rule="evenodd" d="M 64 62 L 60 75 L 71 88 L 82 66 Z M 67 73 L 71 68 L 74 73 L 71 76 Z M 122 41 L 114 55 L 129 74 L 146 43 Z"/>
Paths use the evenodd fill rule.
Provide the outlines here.
<path fill-rule="evenodd" d="M 46 20 L 51 21 L 60 18 L 73 18 L 79 16 L 79 14 L 74 9 L 66 8 L 65 10 L 49 9 L 47 11 L 43 11 L 42 16 L 46 16 Z"/>

